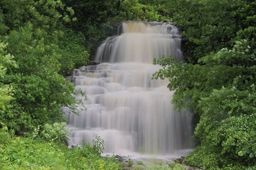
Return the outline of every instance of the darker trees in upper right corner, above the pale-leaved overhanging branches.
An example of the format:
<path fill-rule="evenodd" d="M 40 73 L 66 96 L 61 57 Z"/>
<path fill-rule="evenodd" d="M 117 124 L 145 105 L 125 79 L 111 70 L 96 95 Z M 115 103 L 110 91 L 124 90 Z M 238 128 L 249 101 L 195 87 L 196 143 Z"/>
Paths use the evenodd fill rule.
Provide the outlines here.
<path fill-rule="evenodd" d="M 236 40 L 255 37 L 254 0 L 161 1 L 182 31 L 183 51 L 193 64 L 212 51 L 232 47 Z"/>

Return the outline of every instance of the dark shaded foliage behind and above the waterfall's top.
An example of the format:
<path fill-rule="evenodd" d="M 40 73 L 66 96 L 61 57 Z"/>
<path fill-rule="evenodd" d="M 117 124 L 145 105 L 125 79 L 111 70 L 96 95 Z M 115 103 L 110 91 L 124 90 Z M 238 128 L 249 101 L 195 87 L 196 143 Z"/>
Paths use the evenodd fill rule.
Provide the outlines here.
<path fill-rule="evenodd" d="M 169 21 L 169 17 L 150 5 L 138 0 L 62 0 L 72 6 L 77 21 L 69 26 L 81 31 L 85 36 L 85 46 L 93 57 L 100 41 L 109 35 L 116 34 L 113 28 L 126 20 Z"/>

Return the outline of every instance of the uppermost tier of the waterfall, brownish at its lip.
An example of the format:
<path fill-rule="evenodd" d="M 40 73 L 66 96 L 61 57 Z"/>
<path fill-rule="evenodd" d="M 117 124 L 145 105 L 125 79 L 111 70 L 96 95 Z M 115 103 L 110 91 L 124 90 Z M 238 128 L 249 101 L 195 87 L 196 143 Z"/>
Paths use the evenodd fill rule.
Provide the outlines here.
<path fill-rule="evenodd" d="M 98 48 L 97 62 L 143 62 L 152 64 L 154 57 L 182 59 L 180 34 L 170 23 L 127 22 L 122 34 L 108 37 Z"/>

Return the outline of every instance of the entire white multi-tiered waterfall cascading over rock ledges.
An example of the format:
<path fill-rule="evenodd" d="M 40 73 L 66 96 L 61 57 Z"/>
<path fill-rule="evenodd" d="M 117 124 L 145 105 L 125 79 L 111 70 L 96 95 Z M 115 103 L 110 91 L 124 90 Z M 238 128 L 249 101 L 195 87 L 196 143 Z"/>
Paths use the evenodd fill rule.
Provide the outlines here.
<path fill-rule="evenodd" d="M 171 23 L 126 22 L 122 34 L 98 48 L 95 66 L 74 71 L 75 88 L 86 92 L 86 111 L 64 114 L 69 145 L 105 141 L 105 153 L 174 154 L 191 147 L 192 113 L 176 113 L 167 80 L 152 80 L 154 57 L 182 60 L 180 34 Z M 81 98 L 81 96 L 77 96 Z M 181 153 L 184 154 L 184 153 Z"/>

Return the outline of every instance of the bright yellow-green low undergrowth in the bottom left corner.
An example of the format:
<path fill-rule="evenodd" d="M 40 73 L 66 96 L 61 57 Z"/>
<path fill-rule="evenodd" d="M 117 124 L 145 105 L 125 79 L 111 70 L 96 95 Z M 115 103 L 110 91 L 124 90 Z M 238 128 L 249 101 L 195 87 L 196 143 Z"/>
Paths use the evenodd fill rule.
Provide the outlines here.
<path fill-rule="evenodd" d="M 1 170 L 118 170 L 114 158 L 102 158 L 84 148 L 59 142 L 11 136 L 0 130 Z"/>

